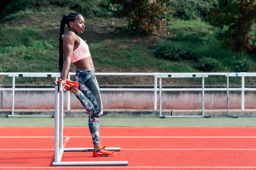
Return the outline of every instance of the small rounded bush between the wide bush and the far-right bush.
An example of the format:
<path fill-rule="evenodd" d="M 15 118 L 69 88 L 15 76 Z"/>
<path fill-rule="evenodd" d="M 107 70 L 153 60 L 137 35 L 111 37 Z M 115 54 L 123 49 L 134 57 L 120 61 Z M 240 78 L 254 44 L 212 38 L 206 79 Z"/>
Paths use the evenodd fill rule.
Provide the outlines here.
<path fill-rule="evenodd" d="M 202 57 L 198 59 L 198 68 L 202 71 L 216 71 L 220 68 L 220 63 L 217 59 Z"/>

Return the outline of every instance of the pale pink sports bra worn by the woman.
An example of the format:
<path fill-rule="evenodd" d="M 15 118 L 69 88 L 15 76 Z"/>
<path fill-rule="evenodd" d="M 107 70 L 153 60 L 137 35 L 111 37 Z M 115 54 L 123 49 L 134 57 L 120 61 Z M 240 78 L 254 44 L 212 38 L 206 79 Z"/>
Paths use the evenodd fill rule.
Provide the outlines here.
<path fill-rule="evenodd" d="M 62 35 L 62 38 L 63 38 L 63 36 L 64 35 Z M 76 36 L 78 37 L 78 35 L 76 35 Z M 72 56 L 71 62 L 76 62 L 76 61 L 79 61 L 80 59 L 91 56 L 87 43 L 80 37 L 78 37 L 78 38 L 80 40 L 80 44 L 79 44 L 78 48 L 76 48 L 76 50 L 73 51 L 73 56 Z"/>

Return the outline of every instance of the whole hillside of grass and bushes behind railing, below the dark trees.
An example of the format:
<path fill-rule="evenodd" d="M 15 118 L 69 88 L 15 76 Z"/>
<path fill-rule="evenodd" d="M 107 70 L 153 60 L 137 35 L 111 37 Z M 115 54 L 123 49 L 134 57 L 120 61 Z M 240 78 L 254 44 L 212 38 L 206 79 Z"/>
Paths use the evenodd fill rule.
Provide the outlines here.
<path fill-rule="evenodd" d="M 186 1 L 186 0 L 184 0 Z M 200 1 L 200 0 L 198 0 Z M 151 35 L 141 35 L 127 28 L 127 21 L 117 18 L 106 4 L 86 11 L 81 6 L 57 4 L 55 0 L 39 1 L 6 17 L 0 23 L 0 72 L 58 72 L 58 40 L 64 14 L 79 11 L 85 17 L 86 29 L 79 36 L 86 40 L 96 72 L 255 72 L 255 54 L 224 49 L 218 40 L 223 30 L 201 20 L 209 4 L 179 12 L 172 6 L 167 26 Z M 64 1 L 63 1 L 64 2 Z M 194 0 L 196 2 L 196 0 Z M 204 1 L 207 2 L 207 1 Z M 176 7 L 175 7 L 176 6 Z M 111 7 L 109 7 L 111 8 Z M 101 10 L 102 9 L 102 10 Z M 104 9 L 104 10 L 103 10 Z M 176 10 L 176 12 L 175 12 Z M 201 12 L 200 12 L 201 10 Z M 251 35 L 254 35 L 253 26 Z M 71 72 L 76 68 L 71 65 Z M 53 78 L 17 78 L 20 85 L 52 85 Z M 153 77 L 101 77 L 103 85 L 154 85 Z M 210 77 L 207 85 L 225 85 L 225 77 Z M 231 78 L 231 85 L 241 79 Z M 0 77 L 0 84 L 12 79 Z M 201 79 L 165 79 L 164 85 L 201 85 Z M 246 78 L 246 85 L 256 79 Z"/>

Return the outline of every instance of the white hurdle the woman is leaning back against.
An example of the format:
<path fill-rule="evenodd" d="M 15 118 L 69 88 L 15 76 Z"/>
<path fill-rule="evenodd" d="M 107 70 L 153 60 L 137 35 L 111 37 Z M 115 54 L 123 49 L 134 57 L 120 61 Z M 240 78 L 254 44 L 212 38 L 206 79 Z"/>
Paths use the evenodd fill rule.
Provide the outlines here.
<path fill-rule="evenodd" d="M 55 147 L 53 166 L 127 166 L 128 161 L 63 161 L 64 151 L 92 152 L 93 148 L 64 148 L 63 147 L 63 91 L 61 85 L 55 85 Z M 107 150 L 120 151 L 120 147 L 106 147 Z"/>

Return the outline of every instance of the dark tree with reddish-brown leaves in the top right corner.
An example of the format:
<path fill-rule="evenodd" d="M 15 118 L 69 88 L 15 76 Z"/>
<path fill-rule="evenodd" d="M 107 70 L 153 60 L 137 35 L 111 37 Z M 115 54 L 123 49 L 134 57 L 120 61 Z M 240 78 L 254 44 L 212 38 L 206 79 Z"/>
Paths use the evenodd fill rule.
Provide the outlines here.
<path fill-rule="evenodd" d="M 218 0 L 215 8 L 210 10 L 205 20 L 219 28 L 227 26 L 221 36 L 224 45 L 241 53 L 243 50 L 252 51 L 254 37 L 249 31 L 256 19 L 256 0 Z"/>

